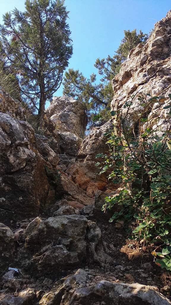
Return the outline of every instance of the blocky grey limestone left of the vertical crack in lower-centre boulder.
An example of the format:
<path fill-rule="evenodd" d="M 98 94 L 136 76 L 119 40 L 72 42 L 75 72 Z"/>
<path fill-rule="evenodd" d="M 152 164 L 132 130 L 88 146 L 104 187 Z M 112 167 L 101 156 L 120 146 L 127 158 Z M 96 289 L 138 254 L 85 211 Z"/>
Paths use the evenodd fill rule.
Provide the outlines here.
<path fill-rule="evenodd" d="M 60 274 L 85 259 L 87 219 L 80 215 L 62 215 L 41 221 L 38 217 L 25 231 L 20 255 L 27 253 L 22 266 L 41 274 Z M 34 249 L 34 253 L 33 250 Z"/>

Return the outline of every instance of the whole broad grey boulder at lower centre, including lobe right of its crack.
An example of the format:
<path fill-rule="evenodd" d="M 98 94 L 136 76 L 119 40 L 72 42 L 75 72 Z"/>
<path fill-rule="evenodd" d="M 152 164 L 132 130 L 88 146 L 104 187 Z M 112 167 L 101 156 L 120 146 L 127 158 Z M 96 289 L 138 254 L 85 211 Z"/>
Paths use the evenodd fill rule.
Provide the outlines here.
<path fill-rule="evenodd" d="M 110 260 L 100 229 L 84 216 L 61 215 L 46 220 L 37 217 L 18 235 L 21 248 L 16 260 L 27 272 L 59 278 L 85 264 L 87 256 L 99 265 Z"/>

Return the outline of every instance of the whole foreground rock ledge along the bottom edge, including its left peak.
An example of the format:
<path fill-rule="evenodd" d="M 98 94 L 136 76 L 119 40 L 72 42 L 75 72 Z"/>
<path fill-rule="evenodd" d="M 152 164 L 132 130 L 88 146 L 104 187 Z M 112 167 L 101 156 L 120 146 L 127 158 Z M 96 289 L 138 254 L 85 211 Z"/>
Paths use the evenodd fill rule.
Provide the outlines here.
<path fill-rule="evenodd" d="M 86 285 L 88 272 L 79 269 L 75 274 L 62 278 L 55 288 L 45 293 L 39 305 L 170 305 L 157 287 L 118 282 L 100 281 Z"/>

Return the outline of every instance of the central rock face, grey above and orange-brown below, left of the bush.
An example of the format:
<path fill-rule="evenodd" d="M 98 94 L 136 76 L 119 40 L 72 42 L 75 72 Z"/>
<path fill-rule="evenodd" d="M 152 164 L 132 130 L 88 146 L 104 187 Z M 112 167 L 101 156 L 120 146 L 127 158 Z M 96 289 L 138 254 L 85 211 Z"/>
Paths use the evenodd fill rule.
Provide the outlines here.
<path fill-rule="evenodd" d="M 101 152 L 107 153 L 109 149 L 104 134 L 112 127 L 113 124 L 107 122 L 101 127 L 93 128 L 82 141 L 75 162 L 70 163 L 65 171 L 90 197 L 94 197 L 98 189 L 105 190 L 108 184 L 105 174 L 99 175 L 99 169 L 95 164 L 96 155 Z"/>

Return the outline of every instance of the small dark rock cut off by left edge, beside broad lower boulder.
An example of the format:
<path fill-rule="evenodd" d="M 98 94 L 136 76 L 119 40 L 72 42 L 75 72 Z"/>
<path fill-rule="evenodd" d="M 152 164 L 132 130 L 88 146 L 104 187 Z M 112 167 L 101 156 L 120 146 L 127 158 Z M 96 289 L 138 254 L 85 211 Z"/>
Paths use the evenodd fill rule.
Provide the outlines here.
<path fill-rule="evenodd" d="M 14 260 L 16 242 L 11 229 L 0 223 L 0 266 L 2 270 L 9 267 Z"/>

